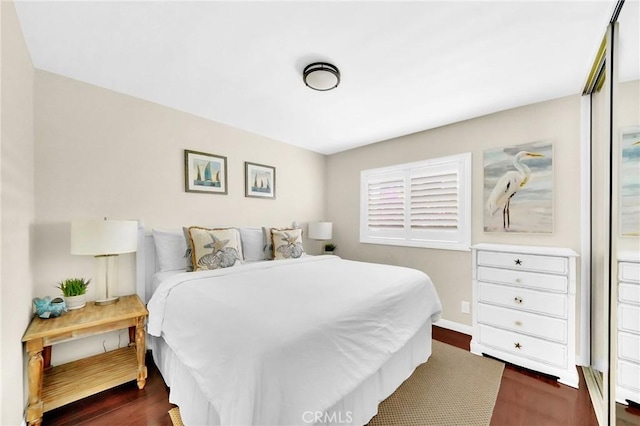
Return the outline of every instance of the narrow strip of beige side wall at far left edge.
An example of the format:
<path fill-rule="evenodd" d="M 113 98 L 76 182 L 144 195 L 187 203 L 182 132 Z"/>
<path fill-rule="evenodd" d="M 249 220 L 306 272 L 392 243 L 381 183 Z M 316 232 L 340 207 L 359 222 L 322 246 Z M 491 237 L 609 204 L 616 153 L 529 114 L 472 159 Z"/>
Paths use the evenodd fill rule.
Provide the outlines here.
<path fill-rule="evenodd" d="M 22 334 L 31 319 L 34 222 L 33 66 L 13 2 L 0 6 L 0 424 L 22 422 Z"/>

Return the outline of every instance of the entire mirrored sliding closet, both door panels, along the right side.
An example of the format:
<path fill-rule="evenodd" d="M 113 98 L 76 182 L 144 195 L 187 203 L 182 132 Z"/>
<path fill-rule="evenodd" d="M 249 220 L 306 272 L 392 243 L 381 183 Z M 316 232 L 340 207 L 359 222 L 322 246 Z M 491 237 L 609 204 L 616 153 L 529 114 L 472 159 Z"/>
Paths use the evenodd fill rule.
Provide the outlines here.
<path fill-rule="evenodd" d="M 640 7 L 618 2 L 585 88 L 590 367 L 601 424 L 640 423 Z"/>

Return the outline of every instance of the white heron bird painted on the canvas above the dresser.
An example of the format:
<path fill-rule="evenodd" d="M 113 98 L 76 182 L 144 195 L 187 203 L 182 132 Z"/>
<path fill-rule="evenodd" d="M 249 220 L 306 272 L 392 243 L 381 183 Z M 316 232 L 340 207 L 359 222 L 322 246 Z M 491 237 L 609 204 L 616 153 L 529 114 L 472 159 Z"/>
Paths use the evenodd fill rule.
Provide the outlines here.
<path fill-rule="evenodd" d="M 511 225 L 509 218 L 509 204 L 511 197 L 516 192 L 524 188 L 531 178 L 531 169 L 523 164 L 522 161 L 527 158 L 544 157 L 537 152 L 520 151 L 513 158 L 513 165 L 517 169 L 510 170 L 505 173 L 496 183 L 487 200 L 487 210 L 493 216 L 500 208 L 502 208 L 502 227 L 508 228 Z"/>

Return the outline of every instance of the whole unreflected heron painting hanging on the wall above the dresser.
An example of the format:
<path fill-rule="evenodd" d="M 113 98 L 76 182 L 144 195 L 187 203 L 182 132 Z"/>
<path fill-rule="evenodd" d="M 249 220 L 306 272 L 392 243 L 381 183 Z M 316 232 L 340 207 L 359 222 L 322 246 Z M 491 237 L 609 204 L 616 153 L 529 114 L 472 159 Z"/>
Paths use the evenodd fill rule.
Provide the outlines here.
<path fill-rule="evenodd" d="M 553 144 L 484 151 L 485 232 L 553 233 Z"/>

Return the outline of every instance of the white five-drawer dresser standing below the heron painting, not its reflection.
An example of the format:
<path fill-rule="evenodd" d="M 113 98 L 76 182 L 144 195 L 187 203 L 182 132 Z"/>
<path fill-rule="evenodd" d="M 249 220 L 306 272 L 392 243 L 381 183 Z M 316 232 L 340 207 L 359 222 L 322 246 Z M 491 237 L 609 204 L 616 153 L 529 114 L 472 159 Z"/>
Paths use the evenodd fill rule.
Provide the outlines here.
<path fill-rule="evenodd" d="M 471 352 L 578 387 L 576 259 L 559 247 L 477 244 Z"/>

